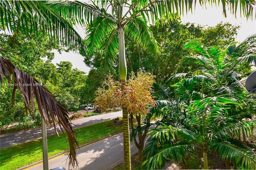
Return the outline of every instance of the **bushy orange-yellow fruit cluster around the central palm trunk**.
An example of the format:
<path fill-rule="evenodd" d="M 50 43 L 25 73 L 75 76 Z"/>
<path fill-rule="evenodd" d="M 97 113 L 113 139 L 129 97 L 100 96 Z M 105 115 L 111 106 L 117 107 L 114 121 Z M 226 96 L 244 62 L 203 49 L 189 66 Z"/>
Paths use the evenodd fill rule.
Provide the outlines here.
<path fill-rule="evenodd" d="M 104 112 L 109 108 L 126 105 L 130 113 L 147 114 L 148 107 L 154 107 L 154 97 L 151 89 L 154 83 L 154 76 L 150 73 L 138 72 L 137 76 L 134 72 L 130 73 L 127 86 L 121 90 L 121 84 L 109 76 L 107 81 L 102 83 L 102 87 L 97 89 L 95 105 L 99 105 Z"/>

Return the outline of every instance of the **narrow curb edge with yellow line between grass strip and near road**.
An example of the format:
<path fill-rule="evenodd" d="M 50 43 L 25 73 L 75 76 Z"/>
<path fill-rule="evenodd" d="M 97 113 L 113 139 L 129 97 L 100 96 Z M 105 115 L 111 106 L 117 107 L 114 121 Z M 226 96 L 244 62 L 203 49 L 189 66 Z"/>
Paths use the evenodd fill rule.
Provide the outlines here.
<path fill-rule="evenodd" d="M 94 144 L 94 143 L 96 143 L 96 142 L 99 142 L 99 141 L 101 141 L 101 140 L 104 140 L 104 139 L 106 139 L 106 138 L 110 138 L 110 137 L 112 137 L 112 136 L 115 136 L 115 135 L 121 134 L 121 133 L 122 133 L 122 131 L 115 132 L 114 134 L 110 134 L 110 135 L 105 136 L 105 137 L 103 137 L 103 138 L 100 138 L 100 139 L 93 140 L 93 141 L 91 141 L 91 142 L 82 144 L 82 145 L 79 146 L 79 148 L 86 147 L 86 146 L 88 146 L 88 145 L 90 145 L 90 144 Z M 79 148 L 78 148 L 78 149 L 79 149 Z M 77 150 L 78 150 L 78 149 L 77 149 Z M 66 153 L 68 153 L 68 152 L 70 152 L 70 150 L 66 150 L 66 151 L 64 151 L 64 152 L 61 152 L 61 153 L 58 153 L 58 154 L 56 154 L 56 155 L 50 156 L 50 157 L 48 157 L 48 160 L 51 160 L 51 159 L 53 159 L 53 158 L 55 158 L 55 157 L 58 157 L 58 156 L 63 155 L 63 154 L 66 154 Z M 36 161 L 36 162 L 34 162 L 34 163 L 32 163 L 32 164 L 28 164 L 28 165 L 26 165 L 26 166 L 23 166 L 23 167 L 21 167 L 21 168 L 18 168 L 18 169 L 16 169 L 16 170 L 25 170 L 25 169 L 27 169 L 27 168 L 30 168 L 30 167 L 32 167 L 32 166 L 35 166 L 35 165 L 37 165 L 37 164 L 42 164 L 42 163 L 43 163 L 43 160 L 39 160 L 39 161 Z"/>

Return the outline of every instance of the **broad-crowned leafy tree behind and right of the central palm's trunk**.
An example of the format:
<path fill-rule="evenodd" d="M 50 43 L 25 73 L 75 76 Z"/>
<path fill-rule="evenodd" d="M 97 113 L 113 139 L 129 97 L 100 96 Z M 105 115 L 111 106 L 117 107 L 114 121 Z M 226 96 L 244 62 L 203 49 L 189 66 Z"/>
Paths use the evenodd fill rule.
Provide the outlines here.
<path fill-rule="evenodd" d="M 214 27 L 203 28 L 194 24 L 182 24 L 180 21 L 165 23 L 162 26 L 151 26 L 154 30 L 154 37 L 161 44 L 160 55 L 154 55 L 140 47 L 140 44 L 126 41 L 126 55 L 128 71 L 143 69 L 156 75 L 157 83 L 166 83 L 174 74 L 196 70 L 197 65 L 188 63 L 186 56 L 194 52 L 184 49 L 188 40 L 200 41 L 202 44 L 211 47 L 226 47 L 234 43 L 239 26 L 232 26 L 229 23 L 220 23 Z M 219 37 L 219 38 L 218 38 Z"/>

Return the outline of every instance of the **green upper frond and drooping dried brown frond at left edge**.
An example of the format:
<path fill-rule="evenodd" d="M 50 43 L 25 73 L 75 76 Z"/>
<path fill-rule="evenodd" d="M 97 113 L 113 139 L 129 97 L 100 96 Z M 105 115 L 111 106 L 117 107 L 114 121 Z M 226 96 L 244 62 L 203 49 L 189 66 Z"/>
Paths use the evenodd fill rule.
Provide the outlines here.
<path fill-rule="evenodd" d="M 48 34 L 50 38 L 69 49 L 85 51 L 83 40 L 73 26 L 43 1 L 0 1 L 0 14 L 0 29 L 12 33 L 12 41 L 14 41 L 18 32 L 26 35 L 35 34 L 36 36 Z M 34 111 L 35 98 L 44 121 L 51 122 L 52 120 L 55 130 L 56 125 L 64 127 L 70 145 L 69 164 L 74 166 L 77 164 L 76 148 L 78 142 L 72 130 L 67 109 L 36 79 L 13 65 L 7 59 L 11 56 L 10 51 L 0 48 L 1 83 L 7 80 L 10 83 L 12 80 L 15 85 L 12 99 L 14 99 L 15 90 L 18 88 L 24 97 L 26 110 Z M 46 113 L 46 115 L 43 113 Z M 62 132 L 64 131 L 62 130 Z M 56 133 L 58 134 L 57 130 Z"/>

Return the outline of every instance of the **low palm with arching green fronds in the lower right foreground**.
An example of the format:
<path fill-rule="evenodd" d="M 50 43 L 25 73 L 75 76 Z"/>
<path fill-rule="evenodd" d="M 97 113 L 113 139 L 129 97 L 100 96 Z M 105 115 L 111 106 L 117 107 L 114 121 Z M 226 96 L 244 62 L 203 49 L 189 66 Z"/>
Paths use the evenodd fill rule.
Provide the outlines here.
<path fill-rule="evenodd" d="M 184 107 L 188 110 L 185 119 L 176 121 L 176 124 L 159 122 L 156 129 L 149 134 L 146 149 L 144 150 L 144 168 L 160 169 L 165 166 L 165 160 L 173 158 L 176 162 L 184 160 L 186 153 L 195 155 L 196 149 L 202 150 L 204 169 L 208 169 L 207 155 L 218 152 L 223 160 L 246 169 L 256 168 L 256 154 L 246 147 L 239 146 L 235 136 L 240 135 L 240 130 L 246 134 L 252 133 L 255 121 L 238 121 L 227 115 L 230 104 L 238 104 L 233 98 L 208 97 L 196 100 L 191 105 Z M 176 115 L 165 110 L 164 115 Z"/>

